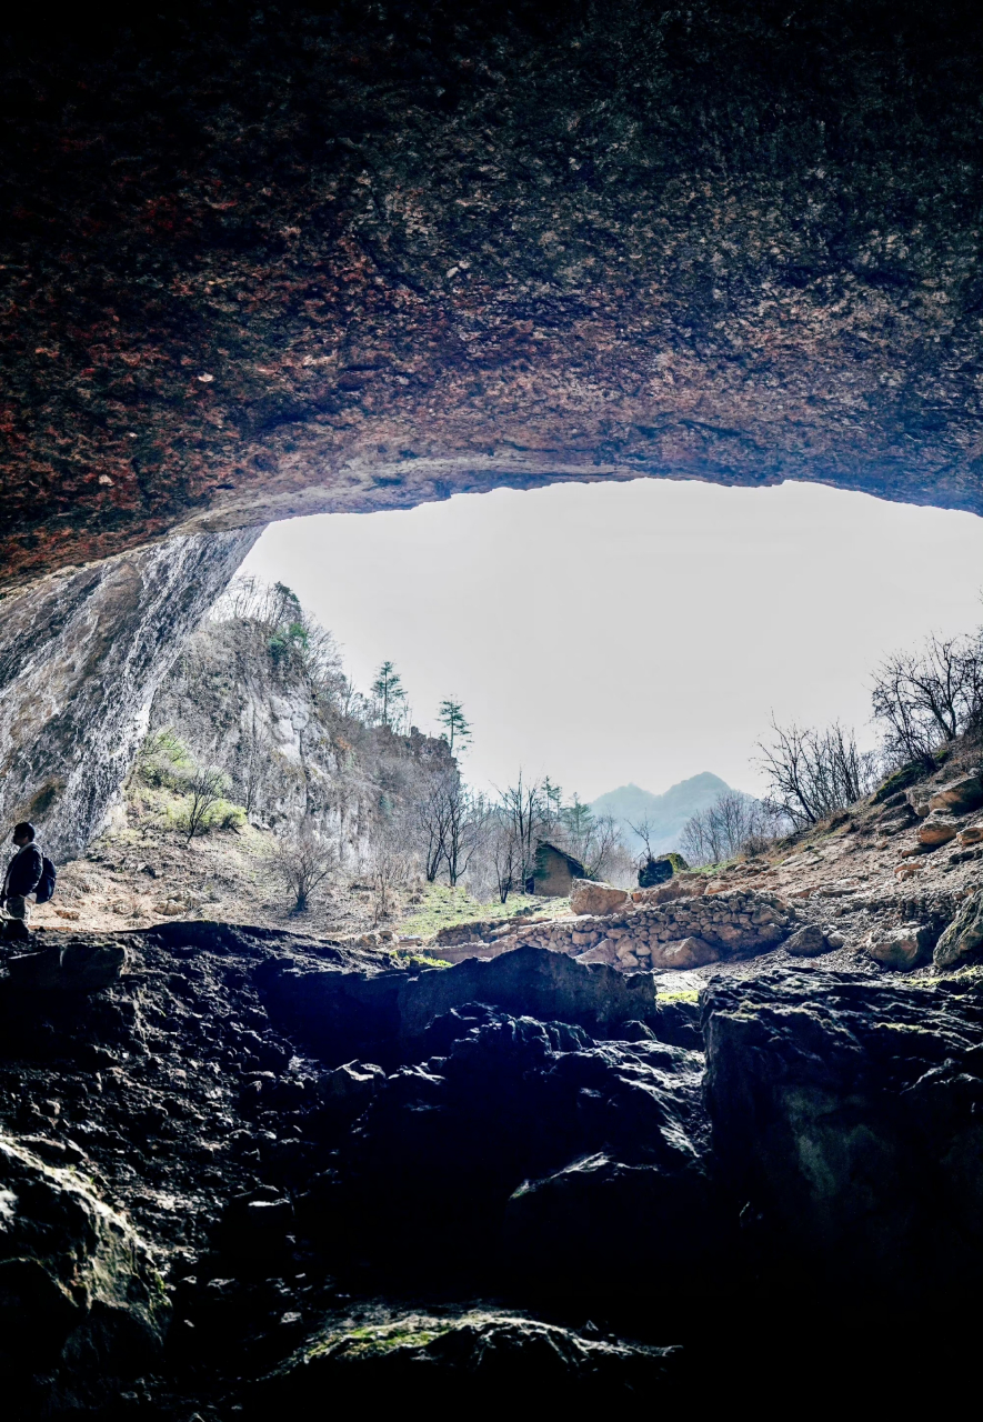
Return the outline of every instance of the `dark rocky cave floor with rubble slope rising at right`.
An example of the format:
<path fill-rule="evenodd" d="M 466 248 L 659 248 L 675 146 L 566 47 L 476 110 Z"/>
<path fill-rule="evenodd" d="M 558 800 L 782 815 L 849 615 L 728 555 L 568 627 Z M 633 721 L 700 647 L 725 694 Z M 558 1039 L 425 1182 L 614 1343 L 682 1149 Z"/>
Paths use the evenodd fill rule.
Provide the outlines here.
<path fill-rule="evenodd" d="M 906 1376 L 956 1385 L 983 1263 L 979 860 L 915 856 L 933 967 L 869 953 L 915 912 L 895 845 L 937 823 L 878 816 L 952 772 L 629 910 L 703 912 L 737 884 L 778 904 L 751 924 L 778 947 L 687 971 L 522 943 L 437 967 L 193 919 L 38 929 L 0 978 L 14 1415 L 546 1389 L 640 1415 L 724 1399 L 763 1349 L 763 1399 L 802 1369 L 817 1396 L 883 1396 L 876 1359 L 939 1300 Z M 955 930 L 929 941 L 925 904 Z M 842 947 L 785 946 L 812 926 L 829 948 L 834 920 Z"/>

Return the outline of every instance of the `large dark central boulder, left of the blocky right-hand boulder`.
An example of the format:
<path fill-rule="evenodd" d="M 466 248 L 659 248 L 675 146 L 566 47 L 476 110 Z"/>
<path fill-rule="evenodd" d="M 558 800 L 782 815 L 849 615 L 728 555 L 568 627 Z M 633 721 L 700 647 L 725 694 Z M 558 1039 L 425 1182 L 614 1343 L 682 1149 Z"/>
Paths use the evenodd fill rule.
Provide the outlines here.
<path fill-rule="evenodd" d="M 666 1224 L 698 1217 L 693 1263 L 708 1217 L 698 1052 L 647 1037 L 595 1042 L 481 1005 L 432 1024 L 431 1042 L 448 1035 L 441 1055 L 388 1076 L 341 1145 L 330 1207 L 350 1251 L 383 1273 L 471 1270 L 485 1288 L 511 1278 L 535 1294 L 597 1291 L 673 1268 Z M 597 1153 L 627 1189 L 583 1169 Z M 580 1170 L 580 1189 L 543 1224 L 565 1170 Z"/>

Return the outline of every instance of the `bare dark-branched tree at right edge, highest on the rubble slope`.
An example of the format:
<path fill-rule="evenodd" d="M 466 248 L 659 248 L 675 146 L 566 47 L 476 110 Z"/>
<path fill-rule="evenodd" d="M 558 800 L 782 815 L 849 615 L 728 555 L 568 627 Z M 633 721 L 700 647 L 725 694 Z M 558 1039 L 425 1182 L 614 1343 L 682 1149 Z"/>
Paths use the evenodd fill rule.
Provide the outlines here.
<path fill-rule="evenodd" d="M 983 633 L 930 636 L 918 651 L 888 657 L 875 674 L 873 717 L 888 728 L 893 762 L 922 761 L 983 721 Z"/>

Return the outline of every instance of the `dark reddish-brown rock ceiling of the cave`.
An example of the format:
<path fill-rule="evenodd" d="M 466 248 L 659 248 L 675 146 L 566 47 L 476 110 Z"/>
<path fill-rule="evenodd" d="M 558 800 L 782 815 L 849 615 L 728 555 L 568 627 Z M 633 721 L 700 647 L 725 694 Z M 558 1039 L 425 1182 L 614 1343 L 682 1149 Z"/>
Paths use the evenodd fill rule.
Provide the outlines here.
<path fill-rule="evenodd" d="M 149 10 L 4 38 L 9 586 L 572 478 L 983 506 L 979 6 Z"/>

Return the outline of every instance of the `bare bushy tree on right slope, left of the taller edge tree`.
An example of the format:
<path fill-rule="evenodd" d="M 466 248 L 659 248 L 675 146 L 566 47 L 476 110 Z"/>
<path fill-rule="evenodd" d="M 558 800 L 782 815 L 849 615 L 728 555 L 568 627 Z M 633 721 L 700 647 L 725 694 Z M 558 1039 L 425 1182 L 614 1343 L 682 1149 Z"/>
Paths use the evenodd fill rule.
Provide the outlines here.
<path fill-rule="evenodd" d="M 768 779 L 765 805 L 797 829 L 845 809 L 866 795 L 878 778 L 878 757 L 856 747 L 838 722 L 825 731 L 772 722 L 774 739 L 758 742 L 760 768 Z"/>

